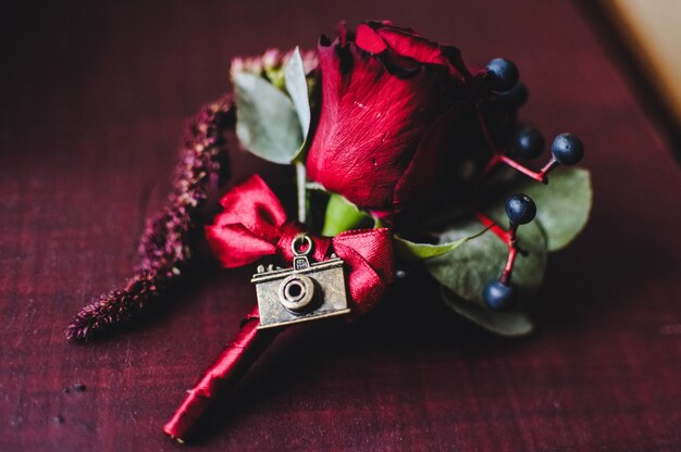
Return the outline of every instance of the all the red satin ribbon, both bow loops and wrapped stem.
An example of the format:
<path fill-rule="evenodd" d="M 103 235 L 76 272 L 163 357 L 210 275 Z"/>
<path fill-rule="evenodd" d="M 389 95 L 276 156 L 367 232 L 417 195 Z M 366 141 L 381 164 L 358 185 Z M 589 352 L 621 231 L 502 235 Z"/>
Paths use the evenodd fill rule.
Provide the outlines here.
<path fill-rule="evenodd" d="M 302 230 L 286 219 L 284 209 L 259 176 L 233 188 L 220 201 L 224 211 L 206 227 L 213 254 L 225 267 L 238 267 L 278 254 L 293 261 L 292 242 Z M 352 230 L 333 239 L 310 236 L 313 258 L 335 252 L 345 261 L 355 313 L 364 313 L 383 296 L 393 279 L 393 242 L 388 229 Z M 258 307 L 248 315 L 218 360 L 203 373 L 163 427 L 172 438 L 184 440 L 221 392 L 232 389 L 258 360 L 281 328 L 258 329 Z"/>

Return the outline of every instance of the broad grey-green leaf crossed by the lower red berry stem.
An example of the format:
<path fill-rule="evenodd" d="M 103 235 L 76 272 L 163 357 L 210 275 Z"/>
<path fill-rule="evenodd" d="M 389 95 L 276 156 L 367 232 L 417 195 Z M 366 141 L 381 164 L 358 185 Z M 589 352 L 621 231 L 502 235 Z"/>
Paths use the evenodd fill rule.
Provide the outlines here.
<path fill-rule="evenodd" d="M 504 206 L 498 205 L 488 215 L 499 222 L 505 219 Z M 442 236 L 441 240 L 458 240 L 480 231 L 480 223 L 471 219 L 458 224 Z M 518 288 L 522 305 L 531 300 L 542 284 L 546 266 L 546 238 L 543 230 L 532 222 L 518 228 L 520 247 L 528 251 L 527 255 L 518 254 L 512 284 Z M 482 299 L 484 286 L 499 277 L 508 258 L 508 247 L 491 230 L 466 240 L 451 251 L 424 261 L 429 273 L 444 287 L 466 302 L 486 309 Z M 492 315 L 492 313 L 490 314 Z M 491 324 L 482 326 L 493 329 Z"/>

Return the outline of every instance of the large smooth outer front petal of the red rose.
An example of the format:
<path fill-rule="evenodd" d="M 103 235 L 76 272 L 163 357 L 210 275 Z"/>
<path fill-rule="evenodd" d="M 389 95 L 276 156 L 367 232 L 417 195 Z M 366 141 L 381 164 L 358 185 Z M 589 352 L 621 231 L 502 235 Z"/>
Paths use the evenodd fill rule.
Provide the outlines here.
<path fill-rule="evenodd" d="M 392 209 L 423 134 L 453 103 L 451 80 L 425 66 L 395 77 L 352 42 L 321 41 L 319 59 L 322 109 L 308 174 L 363 209 Z"/>

